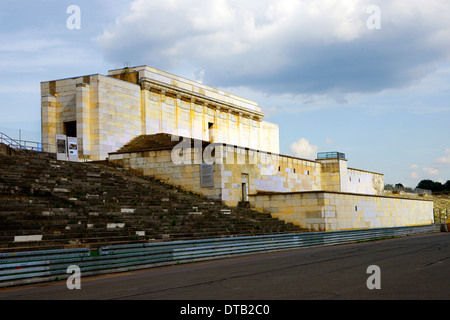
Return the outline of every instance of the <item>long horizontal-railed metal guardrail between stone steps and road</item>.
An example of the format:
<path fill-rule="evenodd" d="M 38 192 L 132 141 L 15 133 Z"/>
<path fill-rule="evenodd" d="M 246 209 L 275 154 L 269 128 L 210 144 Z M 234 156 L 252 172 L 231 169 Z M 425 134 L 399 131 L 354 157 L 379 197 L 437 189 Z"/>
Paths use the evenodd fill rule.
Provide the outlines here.
<path fill-rule="evenodd" d="M 89 248 L 0 253 L 0 287 L 140 270 L 261 252 L 332 246 L 447 231 L 445 224 L 214 238 Z"/>

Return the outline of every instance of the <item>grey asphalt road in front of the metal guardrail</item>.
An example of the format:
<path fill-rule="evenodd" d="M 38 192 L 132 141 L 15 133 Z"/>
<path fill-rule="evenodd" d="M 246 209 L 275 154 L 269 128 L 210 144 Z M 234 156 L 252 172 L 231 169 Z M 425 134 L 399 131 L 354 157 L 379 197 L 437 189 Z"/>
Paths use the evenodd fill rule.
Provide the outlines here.
<path fill-rule="evenodd" d="M 437 233 L 256 254 L 81 278 L 80 290 L 65 281 L 0 289 L 0 300 L 448 300 L 449 244 Z M 367 286 L 371 265 L 380 289 Z"/>

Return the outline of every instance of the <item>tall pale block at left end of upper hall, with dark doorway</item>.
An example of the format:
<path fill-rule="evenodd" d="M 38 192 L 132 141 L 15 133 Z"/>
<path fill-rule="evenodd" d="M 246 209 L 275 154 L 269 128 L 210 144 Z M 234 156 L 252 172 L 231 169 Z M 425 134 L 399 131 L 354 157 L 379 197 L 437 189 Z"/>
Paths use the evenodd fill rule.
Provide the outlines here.
<path fill-rule="evenodd" d="M 41 83 L 44 151 L 55 152 L 55 135 L 76 121 L 81 158 L 105 159 L 141 133 L 140 87 L 91 75 Z"/>

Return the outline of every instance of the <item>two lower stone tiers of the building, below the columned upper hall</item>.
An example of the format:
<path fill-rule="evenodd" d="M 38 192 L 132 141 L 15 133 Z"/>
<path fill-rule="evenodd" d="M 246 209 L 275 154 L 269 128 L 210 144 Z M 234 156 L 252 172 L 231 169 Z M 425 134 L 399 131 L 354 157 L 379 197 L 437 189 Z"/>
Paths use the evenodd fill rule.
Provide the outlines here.
<path fill-rule="evenodd" d="M 208 150 L 205 141 L 198 146 L 184 145 L 182 157 L 174 145 L 159 145 L 111 153 L 109 160 L 227 205 L 248 201 L 260 212 L 314 231 L 433 223 L 432 201 L 385 197 L 382 174 L 348 168 L 344 158 L 311 161 L 222 144 Z M 205 162 L 213 173 L 206 187 Z"/>

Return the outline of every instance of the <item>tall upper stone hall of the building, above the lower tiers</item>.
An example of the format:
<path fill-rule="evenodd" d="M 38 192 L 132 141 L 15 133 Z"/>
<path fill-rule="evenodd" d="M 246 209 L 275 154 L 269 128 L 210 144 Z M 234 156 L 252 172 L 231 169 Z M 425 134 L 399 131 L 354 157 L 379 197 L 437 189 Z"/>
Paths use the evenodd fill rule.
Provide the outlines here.
<path fill-rule="evenodd" d="M 256 102 L 148 66 L 42 82 L 41 96 L 48 152 L 65 134 L 78 138 L 80 159 L 103 160 L 156 133 L 279 152 L 278 126 L 263 121 Z"/>

